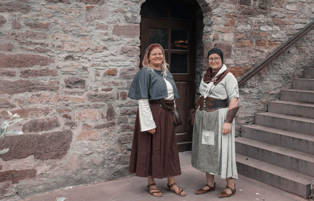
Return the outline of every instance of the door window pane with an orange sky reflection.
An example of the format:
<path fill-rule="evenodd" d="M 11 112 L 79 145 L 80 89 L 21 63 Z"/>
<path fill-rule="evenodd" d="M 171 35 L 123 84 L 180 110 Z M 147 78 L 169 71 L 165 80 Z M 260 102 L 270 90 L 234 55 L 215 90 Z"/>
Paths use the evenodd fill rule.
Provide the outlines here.
<path fill-rule="evenodd" d="M 188 31 L 171 30 L 171 50 L 187 50 Z"/>

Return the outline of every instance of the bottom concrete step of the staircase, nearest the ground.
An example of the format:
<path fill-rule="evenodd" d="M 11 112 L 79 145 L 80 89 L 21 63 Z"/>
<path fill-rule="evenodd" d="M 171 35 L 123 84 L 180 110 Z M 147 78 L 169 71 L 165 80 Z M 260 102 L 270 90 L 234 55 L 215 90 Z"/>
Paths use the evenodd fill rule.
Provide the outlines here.
<path fill-rule="evenodd" d="M 308 198 L 311 194 L 312 177 L 310 176 L 240 154 L 236 154 L 236 166 L 238 173 L 241 175 L 302 198 Z"/>

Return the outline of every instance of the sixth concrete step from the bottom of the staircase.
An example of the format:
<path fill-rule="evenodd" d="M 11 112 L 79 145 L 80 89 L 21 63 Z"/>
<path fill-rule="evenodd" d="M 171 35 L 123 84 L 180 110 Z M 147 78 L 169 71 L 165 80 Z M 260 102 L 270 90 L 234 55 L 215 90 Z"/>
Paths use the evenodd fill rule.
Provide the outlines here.
<path fill-rule="evenodd" d="M 280 100 L 288 100 L 294 102 L 314 103 L 314 91 L 286 89 L 280 91 Z"/>

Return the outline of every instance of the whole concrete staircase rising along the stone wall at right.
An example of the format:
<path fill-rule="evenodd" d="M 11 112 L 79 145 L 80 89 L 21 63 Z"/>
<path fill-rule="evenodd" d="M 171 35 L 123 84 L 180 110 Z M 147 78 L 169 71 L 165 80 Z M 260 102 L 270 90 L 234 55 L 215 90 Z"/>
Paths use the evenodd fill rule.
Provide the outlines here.
<path fill-rule="evenodd" d="M 293 79 L 268 112 L 242 126 L 236 138 L 238 173 L 302 198 L 311 194 L 314 177 L 314 68 Z"/>

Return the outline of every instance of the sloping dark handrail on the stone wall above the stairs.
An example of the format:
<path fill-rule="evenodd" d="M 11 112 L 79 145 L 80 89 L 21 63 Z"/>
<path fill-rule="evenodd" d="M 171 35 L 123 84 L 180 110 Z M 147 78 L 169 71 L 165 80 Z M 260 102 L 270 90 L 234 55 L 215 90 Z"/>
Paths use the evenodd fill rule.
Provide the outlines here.
<path fill-rule="evenodd" d="M 281 55 L 286 49 L 292 46 L 296 41 L 306 35 L 309 31 L 314 28 L 314 21 L 307 24 L 303 29 L 301 29 L 297 34 L 295 34 L 292 38 L 290 38 L 287 42 L 279 46 L 275 51 L 269 54 L 262 62 L 256 64 L 253 68 L 247 71 L 244 75 L 240 77 L 238 80 L 239 87 L 243 85 L 247 80 L 252 78 L 255 74 L 257 74 L 260 70 L 266 67 L 270 62 L 272 62 L 275 58 Z"/>

